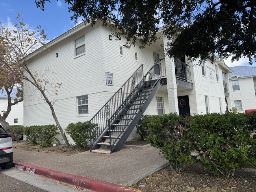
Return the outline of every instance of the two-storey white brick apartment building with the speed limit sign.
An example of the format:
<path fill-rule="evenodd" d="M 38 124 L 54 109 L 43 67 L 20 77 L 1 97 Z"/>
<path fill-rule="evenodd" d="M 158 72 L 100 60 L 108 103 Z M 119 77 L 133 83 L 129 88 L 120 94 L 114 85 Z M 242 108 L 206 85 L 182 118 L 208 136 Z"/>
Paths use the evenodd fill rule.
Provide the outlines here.
<path fill-rule="evenodd" d="M 131 110 L 133 106 L 137 110 L 137 100 L 132 98 L 138 99 L 138 96 L 142 97 L 143 92 L 147 94 L 150 89 L 152 93 L 141 105 L 144 114 L 224 113 L 225 96 L 221 76 L 232 70 L 221 59 L 215 57 L 213 64 L 207 60 L 202 66 L 198 65 L 198 61 L 188 62 L 185 57 L 180 60 L 170 59 L 164 53 L 167 40 L 163 38 L 161 30 L 158 33 L 159 40 L 144 49 L 140 49 L 137 44 L 124 48 L 125 39 L 112 40 L 111 34 L 112 31 L 101 26 L 100 22 L 93 29 L 82 23 L 48 42 L 47 49 L 41 48 L 28 57 L 29 67 L 42 73 L 49 69 L 55 74 L 45 74 L 45 78 L 50 82 L 61 83 L 58 96 L 49 96 L 51 100 L 58 99 L 54 109 L 63 128 L 72 122 L 87 121 L 94 117 L 92 123 L 105 129 L 108 119 L 114 113 L 121 120 L 118 125 L 111 122 L 111 126 L 121 126 L 120 122 L 126 120 L 122 119 L 122 111 L 119 109 L 124 110 L 126 107 L 125 110 Z M 150 70 L 154 62 L 157 64 Z M 143 85 L 139 84 L 143 79 L 142 73 L 147 74 Z M 135 92 L 131 92 L 133 89 Z M 127 105 L 121 106 L 129 94 L 134 97 L 129 97 Z M 108 105 L 105 105 L 106 102 Z M 127 120 L 131 120 L 133 127 L 138 113 L 141 112 L 137 111 L 135 116 Z M 115 118 L 117 121 L 117 116 Z M 50 108 L 41 100 L 40 92 L 25 81 L 24 125 L 54 123 Z M 129 127 L 127 135 L 131 132 Z M 134 130 L 128 139 L 136 136 Z M 104 137 L 107 138 L 108 134 Z M 72 143 L 69 136 L 68 139 Z"/>

